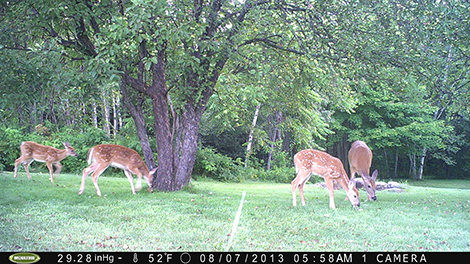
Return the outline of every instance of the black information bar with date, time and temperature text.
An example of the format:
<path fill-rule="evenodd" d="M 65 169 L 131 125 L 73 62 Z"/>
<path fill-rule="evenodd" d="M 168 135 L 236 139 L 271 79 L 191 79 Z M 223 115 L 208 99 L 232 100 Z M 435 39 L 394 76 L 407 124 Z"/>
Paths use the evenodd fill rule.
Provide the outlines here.
<path fill-rule="evenodd" d="M 20 254 L 21 253 L 21 254 Z M 28 254 L 31 257 L 28 257 Z M 20 257 L 21 255 L 21 257 Z M 26 257 L 25 257 L 26 255 Z M 35 260 L 35 256 L 39 260 Z M 0 252 L 2 263 L 387 264 L 465 262 L 469 252 Z M 8 260 L 8 262 L 6 262 Z"/>

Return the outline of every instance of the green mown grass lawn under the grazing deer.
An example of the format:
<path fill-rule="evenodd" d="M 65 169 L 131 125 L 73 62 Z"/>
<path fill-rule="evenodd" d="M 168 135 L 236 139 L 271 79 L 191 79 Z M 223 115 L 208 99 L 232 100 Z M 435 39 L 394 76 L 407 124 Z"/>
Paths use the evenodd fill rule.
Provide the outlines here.
<path fill-rule="evenodd" d="M 292 207 L 290 184 L 193 181 L 180 192 L 132 195 L 127 179 L 0 173 L 0 251 L 470 251 L 470 182 L 410 182 L 361 210 L 336 191 L 307 185 Z M 144 184 L 144 186 L 146 186 Z M 246 192 L 238 229 L 230 234 Z M 298 195 L 298 194 L 297 194 Z M 298 198 L 300 199 L 300 198 Z"/>

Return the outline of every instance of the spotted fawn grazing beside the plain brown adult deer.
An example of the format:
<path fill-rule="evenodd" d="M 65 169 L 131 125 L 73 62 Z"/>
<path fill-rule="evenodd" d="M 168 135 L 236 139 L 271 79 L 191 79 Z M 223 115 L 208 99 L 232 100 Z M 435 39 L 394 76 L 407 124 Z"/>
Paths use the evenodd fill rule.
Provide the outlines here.
<path fill-rule="evenodd" d="M 292 181 L 293 206 L 297 206 L 297 187 L 299 188 L 302 205 L 305 206 L 304 186 L 312 175 L 320 176 L 325 180 L 330 196 L 330 208 L 336 208 L 334 197 L 335 183 L 338 183 L 344 189 L 347 198 L 354 208 L 360 206 L 356 183 L 354 179 L 349 180 L 340 159 L 320 150 L 305 149 L 295 154 L 294 165 L 297 176 Z"/>

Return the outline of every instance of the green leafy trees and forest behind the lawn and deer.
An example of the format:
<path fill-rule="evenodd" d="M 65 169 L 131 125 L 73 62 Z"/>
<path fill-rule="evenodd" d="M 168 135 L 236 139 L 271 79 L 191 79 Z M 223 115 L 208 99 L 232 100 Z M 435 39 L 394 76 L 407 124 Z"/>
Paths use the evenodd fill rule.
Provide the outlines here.
<path fill-rule="evenodd" d="M 468 179 L 469 20 L 461 0 L 1 1 L 0 170 L 24 140 L 69 142 L 75 174 L 116 143 L 160 189 L 290 182 L 296 152 L 346 165 L 363 140 L 379 178 Z"/>

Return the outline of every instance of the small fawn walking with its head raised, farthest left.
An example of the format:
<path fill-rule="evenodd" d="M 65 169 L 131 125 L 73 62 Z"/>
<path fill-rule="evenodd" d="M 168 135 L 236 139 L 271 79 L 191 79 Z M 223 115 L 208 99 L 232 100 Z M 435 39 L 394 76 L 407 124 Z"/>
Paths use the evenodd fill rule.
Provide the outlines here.
<path fill-rule="evenodd" d="M 28 169 L 29 165 L 33 161 L 45 162 L 47 168 L 49 169 L 49 174 L 51 175 L 50 180 L 52 183 L 54 183 L 54 172 L 52 165 L 56 167 L 55 173 L 58 175 L 62 170 L 62 164 L 60 164 L 61 160 L 65 159 L 68 156 L 77 157 L 75 149 L 70 146 L 68 142 L 65 142 L 63 144 L 65 149 L 56 149 L 54 147 L 44 146 L 33 141 L 22 142 L 20 146 L 21 156 L 15 160 L 14 177 L 16 178 L 18 176 L 18 166 L 20 164 L 23 164 L 28 178 L 31 179 L 31 174 L 29 174 Z"/>

